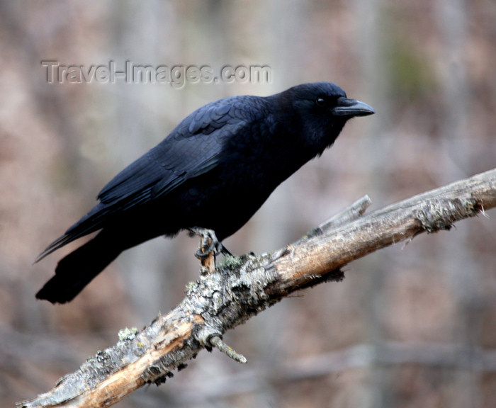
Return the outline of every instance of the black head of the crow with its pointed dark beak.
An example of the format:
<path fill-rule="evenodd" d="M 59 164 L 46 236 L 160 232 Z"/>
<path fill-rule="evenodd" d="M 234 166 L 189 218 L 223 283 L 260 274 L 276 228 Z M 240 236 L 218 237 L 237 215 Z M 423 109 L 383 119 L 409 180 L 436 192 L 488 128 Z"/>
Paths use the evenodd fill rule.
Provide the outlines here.
<path fill-rule="evenodd" d="M 376 113 L 371 106 L 346 97 L 336 84 L 302 84 L 278 94 L 281 105 L 290 113 L 290 122 L 300 128 L 300 135 L 322 154 L 332 145 L 347 120 Z"/>

